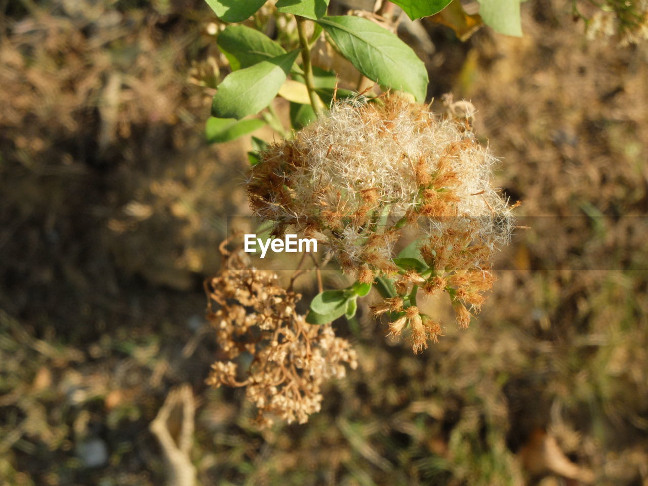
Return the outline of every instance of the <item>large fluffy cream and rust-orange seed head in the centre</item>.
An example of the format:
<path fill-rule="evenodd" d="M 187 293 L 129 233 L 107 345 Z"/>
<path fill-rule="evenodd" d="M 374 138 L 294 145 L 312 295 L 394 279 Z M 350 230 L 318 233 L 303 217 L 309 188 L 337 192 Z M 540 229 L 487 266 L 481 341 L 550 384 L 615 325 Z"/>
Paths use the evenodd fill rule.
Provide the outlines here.
<path fill-rule="evenodd" d="M 489 259 L 509 241 L 511 207 L 491 185 L 496 159 L 474 139 L 468 102 L 439 116 L 396 95 L 338 102 L 327 117 L 271 145 L 248 182 L 255 214 L 326 244 L 364 283 L 393 279 L 376 314 L 391 334 L 411 330 L 413 349 L 441 332 L 416 307 L 417 291 L 446 291 L 468 325 L 491 288 Z M 421 236 L 421 266 L 406 268 L 393 246 L 406 227 Z M 423 264 L 424 262 L 424 264 Z"/>

